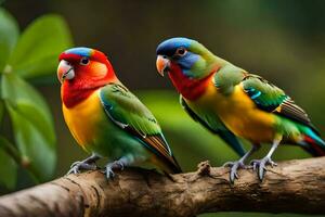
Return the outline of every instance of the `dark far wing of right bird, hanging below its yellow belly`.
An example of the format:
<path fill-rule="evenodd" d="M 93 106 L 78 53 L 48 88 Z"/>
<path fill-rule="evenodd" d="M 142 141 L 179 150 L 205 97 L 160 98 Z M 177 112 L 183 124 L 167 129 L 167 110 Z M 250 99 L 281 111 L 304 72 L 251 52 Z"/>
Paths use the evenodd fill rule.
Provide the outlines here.
<path fill-rule="evenodd" d="M 186 104 L 182 95 L 180 95 L 180 103 L 184 111 L 195 120 L 202 124 L 206 129 L 208 129 L 212 133 L 219 135 L 223 141 L 225 141 L 231 148 L 240 156 L 244 156 L 245 150 L 242 145 L 242 143 L 238 141 L 236 136 L 231 132 L 224 124 L 220 119 L 216 119 L 214 122 L 218 122 L 218 125 L 214 125 L 214 127 L 209 126 L 203 118 L 200 118 L 197 114 L 195 114 L 194 111 L 191 110 L 191 107 Z"/>

